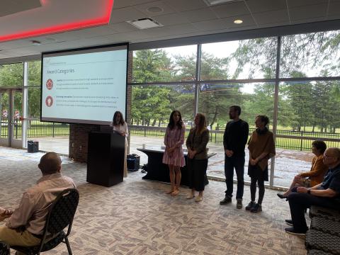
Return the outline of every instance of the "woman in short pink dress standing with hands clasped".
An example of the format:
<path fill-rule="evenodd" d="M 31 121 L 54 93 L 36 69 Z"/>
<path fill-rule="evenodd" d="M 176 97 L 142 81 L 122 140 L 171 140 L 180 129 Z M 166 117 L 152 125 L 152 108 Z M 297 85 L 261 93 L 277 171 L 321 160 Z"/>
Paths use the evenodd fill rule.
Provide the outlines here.
<path fill-rule="evenodd" d="M 171 188 L 167 194 L 171 194 L 171 196 L 179 195 L 179 185 L 181 184 L 180 167 L 186 164 L 182 149 L 185 132 L 186 126 L 183 124 L 181 113 L 173 111 L 165 131 L 165 152 L 163 155 L 163 163 L 169 166 Z"/>

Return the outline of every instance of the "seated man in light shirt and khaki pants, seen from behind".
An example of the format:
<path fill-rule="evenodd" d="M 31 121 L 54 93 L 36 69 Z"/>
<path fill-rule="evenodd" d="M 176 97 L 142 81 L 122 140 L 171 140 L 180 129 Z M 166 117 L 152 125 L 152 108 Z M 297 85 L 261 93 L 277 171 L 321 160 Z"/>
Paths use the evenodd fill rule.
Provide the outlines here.
<path fill-rule="evenodd" d="M 8 217 L 6 226 L 0 227 L 0 254 L 6 254 L 6 245 L 35 246 L 40 244 L 51 203 L 60 192 L 67 188 L 76 188 L 71 178 L 62 176 L 62 161 L 55 152 L 48 152 L 42 156 L 38 167 L 42 172 L 42 177 L 35 186 L 23 193 L 18 208 L 13 212 L 0 208 L 0 221 Z"/>

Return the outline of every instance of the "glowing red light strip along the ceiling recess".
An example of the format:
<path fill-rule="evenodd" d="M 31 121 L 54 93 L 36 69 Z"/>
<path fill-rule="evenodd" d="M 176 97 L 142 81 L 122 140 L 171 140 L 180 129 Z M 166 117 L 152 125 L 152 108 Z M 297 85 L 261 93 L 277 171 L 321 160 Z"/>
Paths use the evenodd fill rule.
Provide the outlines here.
<path fill-rule="evenodd" d="M 41 2 L 43 4 L 43 1 Z M 112 7 L 113 7 L 113 0 L 107 0 L 105 13 L 101 17 L 86 19 L 84 21 L 76 21 L 76 22 L 71 22 L 71 23 L 60 24 L 57 26 L 50 26 L 46 28 L 26 30 L 26 31 L 22 31 L 19 33 L 13 33 L 13 34 L 8 34 L 8 35 L 0 35 L 0 42 L 22 39 L 22 38 L 30 38 L 30 37 L 34 37 L 37 35 L 59 33 L 59 32 L 64 32 L 68 30 L 75 30 L 79 28 L 89 28 L 91 26 L 106 25 L 110 22 Z"/>

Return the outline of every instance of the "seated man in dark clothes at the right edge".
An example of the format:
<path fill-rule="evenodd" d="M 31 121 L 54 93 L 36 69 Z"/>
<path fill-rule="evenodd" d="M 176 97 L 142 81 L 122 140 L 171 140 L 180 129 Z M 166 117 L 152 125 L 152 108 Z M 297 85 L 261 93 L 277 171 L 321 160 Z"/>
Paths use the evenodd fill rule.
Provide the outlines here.
<path fill-rule="evenodd" d="M 295 187 L 288 196 L 293 227 L 285 228 L 290 234 L 305 234 L 308 230 L 305 209 L 311 205 L 340 208 L 340 149 L 329 148 L 324 152 L 324 164 L 329 167 L 322 183 L 311 188 Z M 286 220 L 290 222 L 290 220 Z"/>

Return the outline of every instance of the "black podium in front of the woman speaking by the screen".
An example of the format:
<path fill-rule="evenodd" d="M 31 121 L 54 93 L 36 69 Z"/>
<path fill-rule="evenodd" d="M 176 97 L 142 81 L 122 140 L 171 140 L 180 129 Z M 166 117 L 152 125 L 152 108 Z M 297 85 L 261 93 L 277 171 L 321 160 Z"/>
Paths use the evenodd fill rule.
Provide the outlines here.
<path fill-rule="evenodd" d="M 123 181 L 125 137 L 115 132 L 90 132 L 86 181 L 111 187 Z"/>

